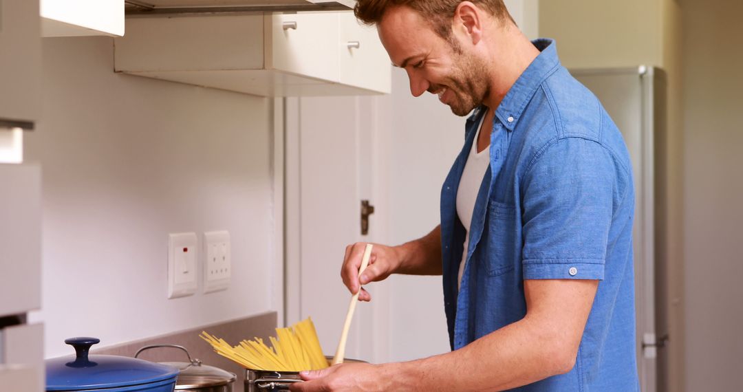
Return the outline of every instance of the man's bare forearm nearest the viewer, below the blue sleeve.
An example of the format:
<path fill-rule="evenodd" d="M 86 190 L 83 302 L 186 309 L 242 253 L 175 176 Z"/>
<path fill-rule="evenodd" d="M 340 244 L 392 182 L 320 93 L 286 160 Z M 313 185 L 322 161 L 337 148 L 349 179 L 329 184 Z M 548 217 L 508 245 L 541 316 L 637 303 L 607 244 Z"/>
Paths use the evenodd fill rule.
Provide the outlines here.
<path fill-rule="evenodd" d="M 502 391 L 570 371 L 598 281 L 524 281 L 526 316 L 451 353 L 380 365 L 399 391 Z"/>

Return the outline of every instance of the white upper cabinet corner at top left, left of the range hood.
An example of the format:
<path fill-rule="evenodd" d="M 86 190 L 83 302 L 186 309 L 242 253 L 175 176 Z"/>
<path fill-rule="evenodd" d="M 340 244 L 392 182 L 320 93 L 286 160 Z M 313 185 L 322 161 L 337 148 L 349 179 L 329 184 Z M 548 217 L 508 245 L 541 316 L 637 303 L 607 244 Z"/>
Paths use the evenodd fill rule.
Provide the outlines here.
<path fill-rule="evenodd" d="M 42 35 L 123 36 L 124 0 L 40 0 Z"/>

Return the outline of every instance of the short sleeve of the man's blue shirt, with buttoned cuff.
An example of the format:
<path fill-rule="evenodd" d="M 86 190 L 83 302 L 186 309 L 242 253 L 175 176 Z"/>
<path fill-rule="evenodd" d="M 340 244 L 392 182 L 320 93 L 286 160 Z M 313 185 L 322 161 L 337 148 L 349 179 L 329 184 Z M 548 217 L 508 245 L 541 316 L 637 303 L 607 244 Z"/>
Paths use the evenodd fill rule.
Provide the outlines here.
<path fill-rule="evenodd" d="M 544 148 L 525 171 L 525 279 L 603 279 L 617 189 L 611 153 L 579 137 Z"/>

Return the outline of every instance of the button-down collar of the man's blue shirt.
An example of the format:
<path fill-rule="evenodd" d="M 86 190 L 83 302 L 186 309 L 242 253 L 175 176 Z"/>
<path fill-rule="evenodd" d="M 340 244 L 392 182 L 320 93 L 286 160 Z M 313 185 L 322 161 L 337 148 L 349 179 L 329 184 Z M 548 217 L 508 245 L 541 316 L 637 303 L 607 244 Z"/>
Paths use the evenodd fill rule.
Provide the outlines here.
<path fill-rule="evenodd" d="M 519 79 L 516 79 L 506 96 L 503 97 L 498 110 L 496 110 L 496 117 L 509 131 L 516 128 L 516 123 L 519 122 L 526 105 L 533 97 L 536 89 L 539 88 L 539 85 L 542 85 L 547 76 L 550 76 L 560 65 L 557 58 L 557 44 L 554 40 L 535 39 L 532 44 L 541 53 L 519 76 Z M 476 108 L 467 121 L 476 121 L 483 111 L 484 106 Z"/>

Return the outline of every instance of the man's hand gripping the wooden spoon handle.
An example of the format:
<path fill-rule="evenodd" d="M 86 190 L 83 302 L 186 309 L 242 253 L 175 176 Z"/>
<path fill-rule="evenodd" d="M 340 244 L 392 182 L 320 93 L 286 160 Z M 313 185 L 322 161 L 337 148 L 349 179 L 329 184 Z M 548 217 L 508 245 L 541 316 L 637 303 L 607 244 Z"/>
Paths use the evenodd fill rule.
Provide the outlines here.
<path fill-rule="evenodd" d="M 374 244 L 374 248 L 371 249 L 369 266 L 359 277 L 359 268 L 361 267 L 361 258 L 365 247 L 366 244 L 361 242 L 345 247 L 345 258 L 343 259 L 343 267 L 340 269 L 340 277 L 343 278 L 343 284 L 348 287 L 351 294 L 355 294 L 361 284 L 386 279 L 400 266 L 400 255 L 394 247 Z M 361 289 L 359 301 L 371 301 L 371 295 L 366 290 Z"/>

